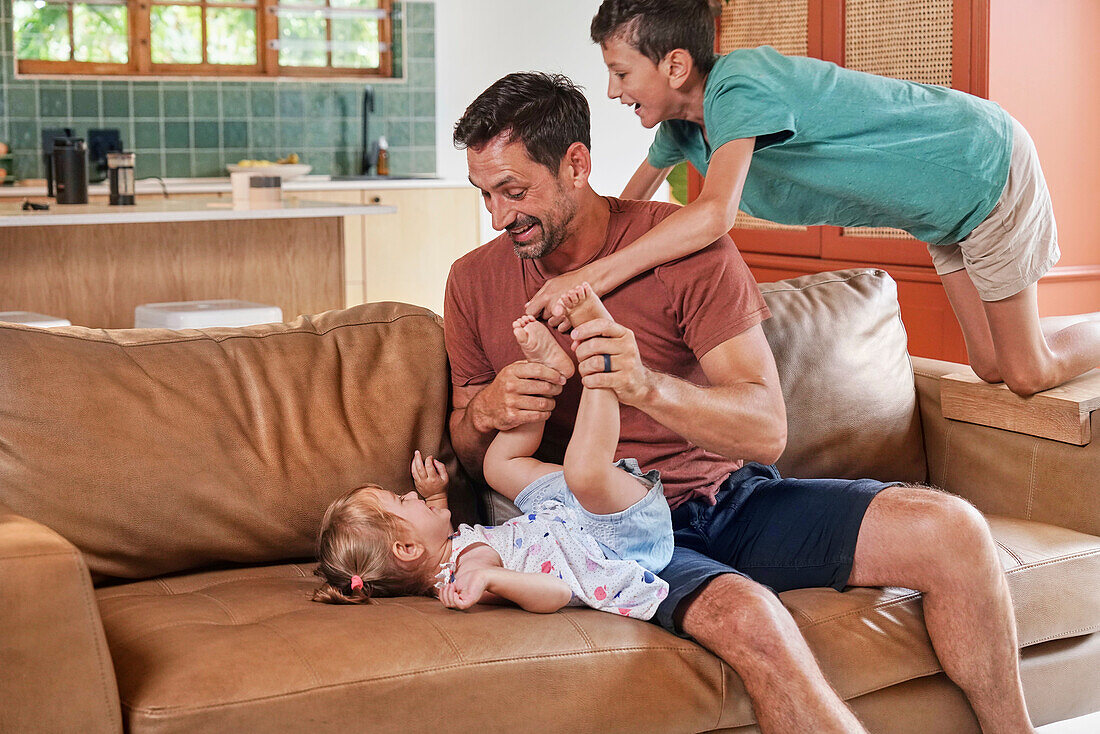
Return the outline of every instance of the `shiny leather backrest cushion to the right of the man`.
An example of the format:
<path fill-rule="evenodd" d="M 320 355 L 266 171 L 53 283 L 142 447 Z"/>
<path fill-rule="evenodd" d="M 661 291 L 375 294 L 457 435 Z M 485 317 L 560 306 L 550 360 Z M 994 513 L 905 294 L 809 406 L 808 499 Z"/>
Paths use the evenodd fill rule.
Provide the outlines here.
<path fill-rule="evenodd" d="M 924 481 L 898 286 L 880 270 L 761 283 L 783 396 L 787 476 Z"/>

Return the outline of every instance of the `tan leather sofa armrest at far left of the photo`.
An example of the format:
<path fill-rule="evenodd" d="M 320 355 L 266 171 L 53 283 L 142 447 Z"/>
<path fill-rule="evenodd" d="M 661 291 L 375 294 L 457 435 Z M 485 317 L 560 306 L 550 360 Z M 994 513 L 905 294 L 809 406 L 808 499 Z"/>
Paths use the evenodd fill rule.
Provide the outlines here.
<path fill-rule="evenodd" d="M 0 504 L 0 731 L 122 731 L 80 551 Z"/>

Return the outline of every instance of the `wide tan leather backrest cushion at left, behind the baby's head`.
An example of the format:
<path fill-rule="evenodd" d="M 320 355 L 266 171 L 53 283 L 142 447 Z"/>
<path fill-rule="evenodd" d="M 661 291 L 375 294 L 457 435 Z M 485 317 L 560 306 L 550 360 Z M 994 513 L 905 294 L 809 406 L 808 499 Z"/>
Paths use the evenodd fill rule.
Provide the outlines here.
<path fill-rule="evenodd" d="M 369 304 L 169 331 L 0 327 L 0 502 L 96 577 L 311 557 L 322 514 L 447 442 L 439 317 Z"/>

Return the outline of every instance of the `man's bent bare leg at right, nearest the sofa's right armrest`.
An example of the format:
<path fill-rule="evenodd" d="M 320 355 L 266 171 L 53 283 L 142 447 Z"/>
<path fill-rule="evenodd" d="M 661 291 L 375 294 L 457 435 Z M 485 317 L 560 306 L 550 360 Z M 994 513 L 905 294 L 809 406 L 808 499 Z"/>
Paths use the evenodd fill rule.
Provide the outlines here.
<path fill-rule="evenodd" d="M 883 490 L 864 517 L 848 582 L 922 592 L 932 646 L 981 731 L 1034 731 L 1008 581 L 989 526 L 968 502 L 925 487 Z"/>

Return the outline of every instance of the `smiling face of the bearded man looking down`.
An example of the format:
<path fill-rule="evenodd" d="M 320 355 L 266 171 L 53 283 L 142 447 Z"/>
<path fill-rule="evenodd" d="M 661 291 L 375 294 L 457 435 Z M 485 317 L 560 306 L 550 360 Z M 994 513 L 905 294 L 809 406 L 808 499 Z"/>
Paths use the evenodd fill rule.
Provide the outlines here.
<path fill-rule="evenodd" d="M 562 174 L 531 160 L 527 147 L 507 135 L 466 149 L 470 183 L 481 189 L 493 229 L 505 230 L 516 254 L 544 258 L 569 239 L 576 201 Z"/>

